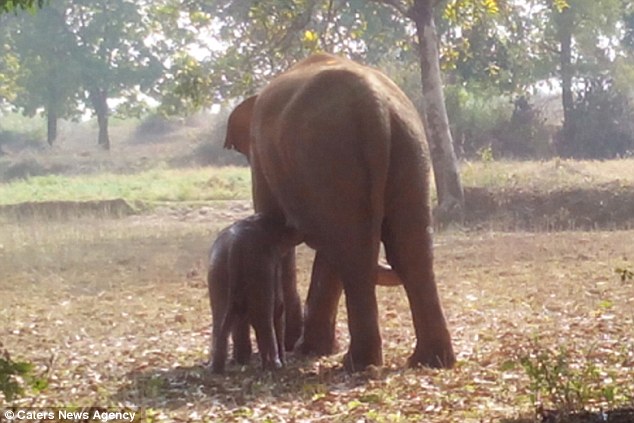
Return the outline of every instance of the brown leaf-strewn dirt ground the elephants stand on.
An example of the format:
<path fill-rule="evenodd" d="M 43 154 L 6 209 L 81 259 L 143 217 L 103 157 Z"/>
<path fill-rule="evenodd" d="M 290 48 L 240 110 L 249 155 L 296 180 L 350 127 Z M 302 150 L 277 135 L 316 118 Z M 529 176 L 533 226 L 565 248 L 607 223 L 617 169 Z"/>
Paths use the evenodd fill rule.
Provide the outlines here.
<path fill-rule="evenodd" d="M 535 390 L 522 360 L 565 350 L 572 369 L 596 370 L 581 382 L 614 388 L 612 400 L 584 405 L 634 405 L 634 281 L 615 273 L 634 268 L 631 229 L 438 233 L 454 370 L 404 368 L 414 342 L 406 296 L 379 287 L 383 369 L 348 375 L 342 351 L 291 354 L 276 374 L 261 372 L 256 357 L 209 377 L 206 252 L 220 228 L 249 213 L 248 202 L 224 202 L 4 221 L 0 340 L 49 381 L 15 404 L 133 407 L 141 421 L 523 422 L 534 416 Z M 312 259 L 299 248 L 302 293 Z M 337 328 L 345 349 L 343 301 Z"/>

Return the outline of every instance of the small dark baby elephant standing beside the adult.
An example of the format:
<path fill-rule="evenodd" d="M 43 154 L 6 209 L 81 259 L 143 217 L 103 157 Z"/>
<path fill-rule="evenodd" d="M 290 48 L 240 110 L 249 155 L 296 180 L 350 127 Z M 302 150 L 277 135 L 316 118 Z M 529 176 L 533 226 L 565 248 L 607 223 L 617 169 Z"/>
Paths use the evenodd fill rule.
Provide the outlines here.
<path fill-rule="evenodd" d="M 211 247 L 207 284 L 213 318 L 211 370 L 222 373 L 227 338 L 240 364 L 251 357 L 249 326 L 255 329 L 262 367 L 284 361 L 284 302 L 281 258 L 301 241 L 298 233 L 269 216 L 255 214 L 223 229 Z"/>

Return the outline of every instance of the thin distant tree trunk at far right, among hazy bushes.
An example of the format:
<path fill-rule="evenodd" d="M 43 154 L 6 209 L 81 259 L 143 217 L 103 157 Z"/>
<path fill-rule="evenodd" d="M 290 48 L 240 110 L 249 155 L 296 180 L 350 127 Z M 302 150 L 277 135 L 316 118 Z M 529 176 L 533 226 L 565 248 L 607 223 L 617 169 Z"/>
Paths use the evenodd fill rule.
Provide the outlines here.
<path fill-rule="evenodd" d="M 572 95 L 572 24 L 573 16 L 570 7 L 558 13 L 556 18 L 557 37 L 559 41 L 559 63 L 561 73 L 561 104 L 564 110 L 563 147 L 564 154 L 572 153 L 575 138 L 574 99 Z"/>

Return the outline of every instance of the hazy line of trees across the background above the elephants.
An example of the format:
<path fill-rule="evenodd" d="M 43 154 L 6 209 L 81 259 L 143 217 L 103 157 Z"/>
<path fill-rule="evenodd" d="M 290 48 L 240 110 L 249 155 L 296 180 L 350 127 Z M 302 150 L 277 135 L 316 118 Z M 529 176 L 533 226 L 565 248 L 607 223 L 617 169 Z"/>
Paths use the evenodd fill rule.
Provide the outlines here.
<path fill-rule="evenodd" d="M 435 54 L 459 156 L 634 150 L 628 0 L 9 0 L 0 12 L 0 102 L 46 116 L 51 144 L 58 119 L 91 111 L 109 148 L 113 112 L 225 104 L 324 50 L 390 74 L 420 106 L 432 147 L 446 145 L 435 141 L 438 90 L 425 85 Z M 548 97 L 557 107 L 541 107 Z"/>

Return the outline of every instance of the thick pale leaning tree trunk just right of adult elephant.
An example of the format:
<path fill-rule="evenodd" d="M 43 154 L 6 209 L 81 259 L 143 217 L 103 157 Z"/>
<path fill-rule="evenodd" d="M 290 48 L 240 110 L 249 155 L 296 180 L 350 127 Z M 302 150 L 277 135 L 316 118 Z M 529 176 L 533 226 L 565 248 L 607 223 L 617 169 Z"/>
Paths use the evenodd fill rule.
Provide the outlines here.
<path fill-rule="evenodd" d="M 438 195 L 438 208 L 434 214 L 440 222 L 460 222 L 464 217 L 464 192 L 445 108 L 433 1 L 416 0 L 409 15 L 416 24 L 420 49 L 423 120 Z"/>

